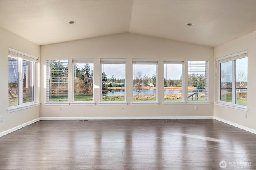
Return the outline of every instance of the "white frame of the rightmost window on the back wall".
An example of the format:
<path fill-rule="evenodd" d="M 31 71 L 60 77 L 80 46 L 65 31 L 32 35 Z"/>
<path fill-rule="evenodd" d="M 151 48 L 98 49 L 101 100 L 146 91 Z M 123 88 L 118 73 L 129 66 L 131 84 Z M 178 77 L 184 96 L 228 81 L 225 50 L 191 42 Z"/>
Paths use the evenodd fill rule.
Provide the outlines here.
<path fill-rule="evenodd" d="M 207 79 L 205 81 L 206 87 L 205 87 L 205 96 L 207 96 L 207 100 L 188 100 L 188 93 L 186 96 L 186 102 L 187 104 L 210 104 L 209 103 L 209 60 L 208 59 L 188 59 L 189 61 L 205 61 L 207 62 L 207 67 L 206 67 L 206 74 L 207 74 Z M 188 64 L 187 62 L 187 64 Z M 187 65 L 187 76 L 188 76 L 188 65 Z M 186 76 L 186 77 L 187 77 Z M 188 89 L 187 89 L 188 92 Z"/>

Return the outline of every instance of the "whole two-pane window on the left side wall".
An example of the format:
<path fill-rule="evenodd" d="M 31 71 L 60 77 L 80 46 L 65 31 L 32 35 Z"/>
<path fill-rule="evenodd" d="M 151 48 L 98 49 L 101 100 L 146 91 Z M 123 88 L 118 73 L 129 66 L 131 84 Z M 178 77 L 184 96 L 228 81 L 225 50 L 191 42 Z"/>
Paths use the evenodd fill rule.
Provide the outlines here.
<path fill-rule="evenodd" d="M 37 61 L 37 57 L 9 50 L 8 106 L 34 103 L 34 70 Z"/>

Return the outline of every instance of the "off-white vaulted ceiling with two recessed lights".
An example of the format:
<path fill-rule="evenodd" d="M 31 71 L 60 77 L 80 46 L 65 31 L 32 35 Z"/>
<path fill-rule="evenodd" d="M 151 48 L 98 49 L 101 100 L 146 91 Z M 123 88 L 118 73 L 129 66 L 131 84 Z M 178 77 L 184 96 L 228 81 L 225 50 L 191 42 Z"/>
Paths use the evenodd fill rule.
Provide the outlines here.
<path fill-rule="evenodd" d="M 1 27 L 38 45 L 130 32 L 216 47 L 256 30 L 255 0 L 1 0 L 0 5 Z"/>

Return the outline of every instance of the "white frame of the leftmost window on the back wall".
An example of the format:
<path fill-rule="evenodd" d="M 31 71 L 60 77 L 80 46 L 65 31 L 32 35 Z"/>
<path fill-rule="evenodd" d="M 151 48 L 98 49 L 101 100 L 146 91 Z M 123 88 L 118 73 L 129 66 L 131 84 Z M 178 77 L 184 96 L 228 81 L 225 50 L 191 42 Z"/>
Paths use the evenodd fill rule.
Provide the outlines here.
<path fill-rule="evenodd" d="M 68 64 L 69 64 L 69 59 L 68 58 L 46 58 L 46 69 L 49 69 L 49 67 L 48 67 L 48 64 L 47 64 L 47 62 L 48 61 L 51 61 L 51 60 L 56 60 L 56 61 L 68 61 Z M 69 68 L 68 68 L 68 72 L 69 72 Z M 69 73 L 68 73 L 69 74 Z M 70 77 L 69 77 L 69 75 L 68 75 L 68 79 L 69 79 Z M 47 75 L 47 70 L 46 70 L 46 80 L 45 81 L 49 81 L 49 77 L 48 77 L 48 75 Z M 52 101 L 47 101 L 47 88 L 48 88 L 48 86 L 47 86 L 47 82 L 45 82 L 46 83 L 46 99 L 45 99 L 45 105 L 69 105 L 69 101 L 60 101 L 60 102 L 57 102 L 57 101 L 54 101 L 54 102 L 52 102 Z M 69 83 L 69 81 L 68 81 L 68 83 Z M 69 86 L 69 84 L 68 84 L 68 86 Z M 68 96 L 68 98 L 69 98 L 69 96 Z"/>

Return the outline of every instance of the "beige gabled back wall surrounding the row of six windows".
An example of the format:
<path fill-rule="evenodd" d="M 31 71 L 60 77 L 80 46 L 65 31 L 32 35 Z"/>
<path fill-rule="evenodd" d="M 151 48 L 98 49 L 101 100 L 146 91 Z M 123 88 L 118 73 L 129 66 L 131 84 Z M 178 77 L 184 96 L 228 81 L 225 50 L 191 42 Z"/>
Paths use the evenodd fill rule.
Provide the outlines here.
<path fill-rule="evenodd" d="M 147 116 L 213 116 L 213 82 L 214 82 L 214 56 L 213 48 L 192 45 L 178 41 L 170 41 L 138 35 L 123 33 L 92 39 L 83 39 L 52 45 L 41 46 L 41 68 L 44 68 L 46 58 L 68 58 L 71 63 L 74 58 L 94 58 L 94 84 L 100 86 L 100 58 L 127 59 L 126 91 L 128 105 L 121 110 L 120 105 L 99 105 L 100 89 L 95 89 L 94 106 L 61 106 L 45 105 L 46 89 L 41 88 L 41 117 L 147 117 Z M 158 102 L 159 105 L 131 105 L 132 102 L 132 58 L 158 59 Z M 208 105 L 162 105 L 163 102 L 163 59 L 185 59 L 185 69 L 188 59 L 209 59 L 210 87 Z M 70 70 L 71 71 L 71 70 Z M 44 77 L 44 70 L 41 77 Z M 69 73 L 70 77 L 71 72 Z M 42 80 L 42 79 L 41 79 Z M 186 77 L 185 77 L 186 80 Z M 69 94 L 71 95 L 72 80 L 70 78 Z M 186 84 L 186 81 L 185 81 Z M 41 87 L 44 82 L 41 81 Z M 70 101 L 71 102 L 71 101 Z"/>

